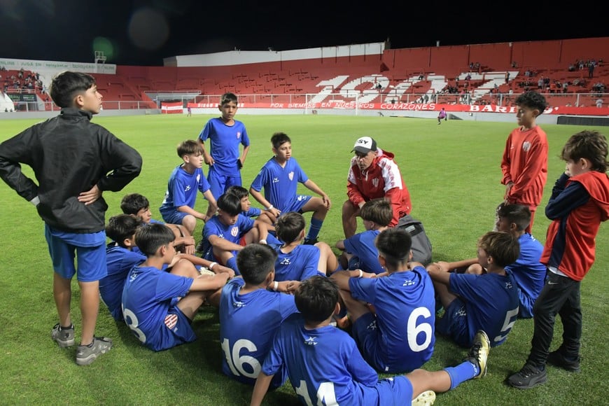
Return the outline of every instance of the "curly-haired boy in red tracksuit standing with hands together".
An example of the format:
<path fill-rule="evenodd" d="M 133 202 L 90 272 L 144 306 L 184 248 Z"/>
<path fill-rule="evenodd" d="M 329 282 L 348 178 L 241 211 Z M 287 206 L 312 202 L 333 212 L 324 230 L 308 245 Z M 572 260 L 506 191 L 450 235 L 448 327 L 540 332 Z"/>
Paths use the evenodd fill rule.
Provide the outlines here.
<path fill-rule="evenodd" d="M 541 94 L 531 91 L 521 94 L 515 103 L 518 127 L 507 137 L 501 160 L 503 202 L 528 206 L 531 223 L 526 232 L 531 234 L 535 209 L 541 202 L 547 180 L 547 138 L 535 119 L 543 113 L 547 102 Z"/>

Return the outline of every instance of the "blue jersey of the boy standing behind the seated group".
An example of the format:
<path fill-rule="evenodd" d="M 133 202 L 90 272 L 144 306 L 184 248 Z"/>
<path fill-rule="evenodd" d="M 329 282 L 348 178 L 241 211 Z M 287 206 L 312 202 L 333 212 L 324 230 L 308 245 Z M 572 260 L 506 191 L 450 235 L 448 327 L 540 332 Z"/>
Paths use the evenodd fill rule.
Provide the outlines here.
<path fill-rule="evenodd" d="M 225 176 L 239 176 L 239 144 L 249 146 L 245 125 L 238 120 L 233 125 L 226 125 L 221 118 L 212 118 L 199 134 L 199 139 L 203 142 L 208 138 L 209 155 L 215 161 L 214 170 Z"/>

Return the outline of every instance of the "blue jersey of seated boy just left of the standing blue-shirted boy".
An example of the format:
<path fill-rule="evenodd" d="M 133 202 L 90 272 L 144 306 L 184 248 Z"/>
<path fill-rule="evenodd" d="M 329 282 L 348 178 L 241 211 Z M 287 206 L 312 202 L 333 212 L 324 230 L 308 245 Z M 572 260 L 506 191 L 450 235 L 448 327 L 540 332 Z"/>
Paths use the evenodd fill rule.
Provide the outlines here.
<path fill-rule="evenodd" d="M 165 220 L 165 215 L 173 213 L 178 207 L 188 206 L 195 208 L 197 201 L 197 190 L 201 193 L 209 190 L 209 183 L 203 174 L 202 169 L 197 168 L 193 174 L 186 172 L 181 165 L 176 167 L 169 176 L 167 191 L 159 211 Z"/>

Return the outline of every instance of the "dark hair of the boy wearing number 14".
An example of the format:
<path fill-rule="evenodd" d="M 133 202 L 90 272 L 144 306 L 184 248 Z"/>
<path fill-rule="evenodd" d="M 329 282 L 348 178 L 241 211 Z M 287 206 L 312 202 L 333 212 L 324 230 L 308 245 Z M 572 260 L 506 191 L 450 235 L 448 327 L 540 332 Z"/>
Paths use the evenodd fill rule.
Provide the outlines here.
<path fill-rule="evenodd" d="M 320 322 L 327 320 L 336 309 L 338 286 L 325 276 L 316 275 L 300 283 L 294 293 L 296 308 L 304 320 Z"/>

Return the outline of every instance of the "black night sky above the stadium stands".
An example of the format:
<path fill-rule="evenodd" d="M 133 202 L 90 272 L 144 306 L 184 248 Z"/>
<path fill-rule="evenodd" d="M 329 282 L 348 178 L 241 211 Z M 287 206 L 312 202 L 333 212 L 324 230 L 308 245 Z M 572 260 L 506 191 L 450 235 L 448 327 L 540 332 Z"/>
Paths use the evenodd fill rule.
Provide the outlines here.
<path fill-rule="evenodd" d="M 382 42 L 416 48 L 609 36 L 601 3 L 0 0 L 0 58 L 162 66 L 163 58 Z M 446 4 L 446 5 L 443 5 Z M 379 5 L 379 7 L 377 7 Z M 594 10 L 598 8 L 598 10 Z"/>

